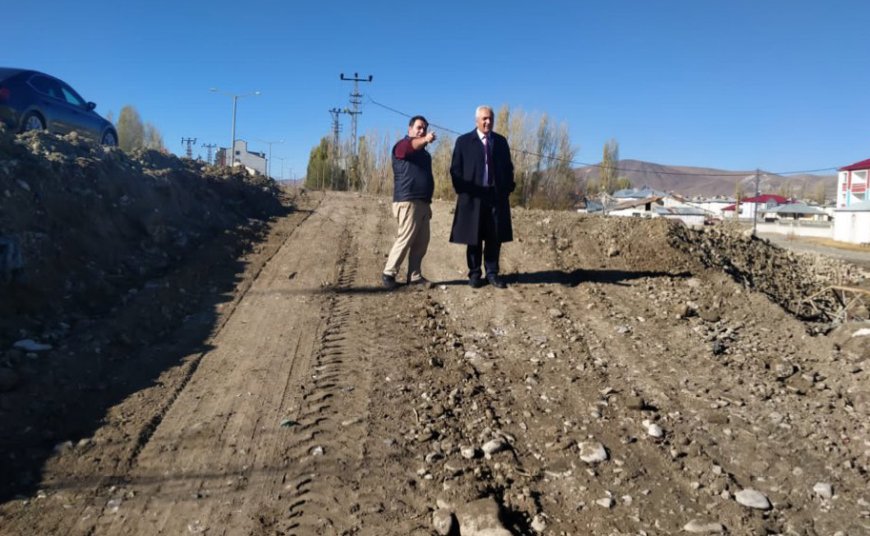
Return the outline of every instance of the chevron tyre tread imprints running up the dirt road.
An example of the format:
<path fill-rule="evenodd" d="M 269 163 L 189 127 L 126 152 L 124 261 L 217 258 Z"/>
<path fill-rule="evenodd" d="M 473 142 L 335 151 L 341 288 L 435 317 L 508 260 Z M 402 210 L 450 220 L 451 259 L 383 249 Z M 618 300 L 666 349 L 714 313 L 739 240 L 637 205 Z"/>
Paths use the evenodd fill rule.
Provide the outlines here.
<path fill-rule="evenodd" d="M 349 228 L 340 236 L 338 273 L 328 290 L 348 289 L 357 277 L 358 245 Z M 363 456 L 365 430 L 359 423 L 367 409 L 367 386 L 360 380 L 367 375 L 372 334 L 356 318 L 357 308 L 355 298 L 343 292 L 333 292 L 325 305 L 311 383 L 302 397 L 299 434 L 286 455 L 306 472 L 285 486 L 291 496 L 282 534 L 318 534 L 327 527 L 343 533 L 359 525 L 350 509 L 358 502 L 351 479 Z"/>

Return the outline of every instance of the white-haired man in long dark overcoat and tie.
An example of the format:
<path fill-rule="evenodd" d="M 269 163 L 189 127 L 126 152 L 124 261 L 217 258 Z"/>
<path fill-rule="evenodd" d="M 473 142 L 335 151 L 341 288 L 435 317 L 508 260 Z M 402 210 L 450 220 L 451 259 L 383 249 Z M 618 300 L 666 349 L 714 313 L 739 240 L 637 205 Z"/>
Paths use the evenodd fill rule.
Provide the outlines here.
<path fill-rule="evenodd" d="M 450 242 L 466 244 L 472 288 L 482 287 L 484 281 L 507 287 L 498 275 L 498 258 L 502 243 L 513 240 L 509 197 L 516 187 L 514 165 L 507 139 L 492 131 L 493 119 L 491 107 L 477 107 L 476 128 L 456 139 L 450 163 L 456 191 Z"/>

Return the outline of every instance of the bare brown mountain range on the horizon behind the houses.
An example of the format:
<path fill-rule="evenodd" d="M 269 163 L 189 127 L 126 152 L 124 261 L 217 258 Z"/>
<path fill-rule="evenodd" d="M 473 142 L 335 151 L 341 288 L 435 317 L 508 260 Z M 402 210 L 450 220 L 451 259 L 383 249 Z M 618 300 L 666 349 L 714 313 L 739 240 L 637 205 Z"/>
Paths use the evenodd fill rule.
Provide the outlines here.
<path fill-rule="evenodd" d="M 597 166 L 576 168 L 574 172 L 583 181 L 598 179 Z M 743 184 L 745 194 L 755 193 L 755 170 L 725 171 L 713 168 L 689 166 L 667 166 L 641 160 L 620 160 L 619 176 L 626 177 L 633 187 L 649 186 L 663 192 L 673 192 L 684 196 L 729 196 L 733 197 L 738 182 Z M 811 197 L 817 185 L 825 185 L 825 195 L 833 199 L 836 175 L 776 175 L 766 171 L 759 173 L 758 190 L 760 193 L 778 193 L 790 187 L 796 197 Z"/>

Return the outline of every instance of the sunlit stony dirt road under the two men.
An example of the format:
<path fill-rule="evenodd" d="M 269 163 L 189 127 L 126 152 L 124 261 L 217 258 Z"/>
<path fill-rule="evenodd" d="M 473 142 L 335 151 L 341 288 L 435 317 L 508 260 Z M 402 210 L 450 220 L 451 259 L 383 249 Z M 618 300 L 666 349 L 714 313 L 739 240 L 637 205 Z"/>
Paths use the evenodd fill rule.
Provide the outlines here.
<path fill-rule="evenodd" d="M 385 292 L 388 202 L 299 203 L 0 533 L 870 531 L 866 323 L 810 336 L 663 221 L 518 211 L 471 289 L 444 203 L 437 284 Z"/>

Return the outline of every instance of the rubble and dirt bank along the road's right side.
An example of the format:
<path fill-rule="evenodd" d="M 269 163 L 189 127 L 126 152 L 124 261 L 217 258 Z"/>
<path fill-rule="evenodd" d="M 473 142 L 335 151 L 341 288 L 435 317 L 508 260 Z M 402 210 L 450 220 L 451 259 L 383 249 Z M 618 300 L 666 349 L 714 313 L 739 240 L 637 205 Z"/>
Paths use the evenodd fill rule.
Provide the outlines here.
<path fill-rule="evenodd" d="M 522 213 L 521 213 L 522 214 Z M 613 278 L 614 270 L 649 274 L 724 272 L 749 291 L 760 292 L 800 320 L 811 332 L 826 332 L 842 321 L 844 304 L 835 285 L 861 286 L 867 273 L 852 264 L 821 255 L 795 253 L 728 224 L 690 229 L 656 219 L 576 217 L 528 213 L 547 243 L 569 267 L 579 264 L 570 281 Z M 599 274 L 598 269 L 605 273 Z M 850 318 L 868 318 L 866 307 L 850 309 Z"/>

